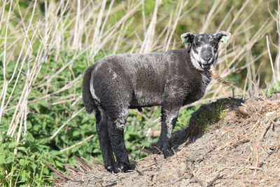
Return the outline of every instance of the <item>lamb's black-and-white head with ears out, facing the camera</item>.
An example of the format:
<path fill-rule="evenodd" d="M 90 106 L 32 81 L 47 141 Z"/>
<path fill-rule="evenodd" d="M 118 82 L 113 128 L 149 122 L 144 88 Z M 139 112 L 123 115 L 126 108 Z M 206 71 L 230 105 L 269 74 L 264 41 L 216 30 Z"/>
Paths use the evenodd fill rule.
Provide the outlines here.
<path fill-rule="evenodd" d="M 183 43 L 190 43 L 190 60 L 196 69 L 204 71 L 211 64 L 216 64 L 218 58 L 218 43 L 227 43 L 230 39 L 229 32 L 215 34 L 193 34 L 186 32 L 181 35 Z"/>

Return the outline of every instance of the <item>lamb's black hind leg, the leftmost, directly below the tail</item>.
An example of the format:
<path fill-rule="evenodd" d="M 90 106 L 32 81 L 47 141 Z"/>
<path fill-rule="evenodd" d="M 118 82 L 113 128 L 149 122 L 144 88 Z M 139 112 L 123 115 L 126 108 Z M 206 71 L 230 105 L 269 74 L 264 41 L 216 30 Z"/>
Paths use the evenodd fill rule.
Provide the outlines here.
<path fill-rule="evenodd" d="M 102 157 L 104 160 L 104 167 L 109 172 L 118 172 L 116 167 L 116 161 L 113 157 L 113 151 L 111 147 L 111 141 L 109 139 L 109 132 L 108 132 L 108 117 L 106 112 L 102 107 L 98 107 L 95 113 L 97 119 L 97 134 L 99 139 L 99 144 L 102 152 Z"/>

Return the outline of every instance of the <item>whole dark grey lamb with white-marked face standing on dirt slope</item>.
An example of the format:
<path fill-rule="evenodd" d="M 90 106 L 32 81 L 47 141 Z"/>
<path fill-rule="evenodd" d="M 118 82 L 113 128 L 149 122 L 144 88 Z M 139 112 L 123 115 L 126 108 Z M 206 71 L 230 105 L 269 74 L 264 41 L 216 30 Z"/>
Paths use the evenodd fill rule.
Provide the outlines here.
<path fill-rule="evenodd" d="M 83 101 L 95 111 L 97 134 L 110 172 L 133 169 L 123 138 L 128 109 L 162 106 L 157 147 L 165 158 L 174 155 L 172 131 L 181 106 L 203 97 L 218 58 L 218 43 L 228 32 L 181 35 L 189 48 L 151 54 L 109 55 L 91 67 L 83 78 Z"/>

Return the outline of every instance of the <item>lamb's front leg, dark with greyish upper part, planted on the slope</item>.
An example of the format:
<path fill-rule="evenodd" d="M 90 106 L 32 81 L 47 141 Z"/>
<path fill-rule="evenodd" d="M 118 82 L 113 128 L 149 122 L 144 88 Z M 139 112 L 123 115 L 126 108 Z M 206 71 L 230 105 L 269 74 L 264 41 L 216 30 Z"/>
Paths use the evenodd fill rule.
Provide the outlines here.
<path fill-rule="evenodd" d="M 162 106 L 162 128 L 157 147 L 162 151 L 165 158 L 174 155 L 172 151 L 172 131 L 178 118 L 179 108 L 168 109 Z"/>

